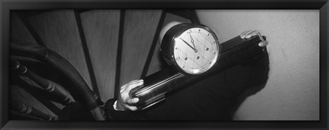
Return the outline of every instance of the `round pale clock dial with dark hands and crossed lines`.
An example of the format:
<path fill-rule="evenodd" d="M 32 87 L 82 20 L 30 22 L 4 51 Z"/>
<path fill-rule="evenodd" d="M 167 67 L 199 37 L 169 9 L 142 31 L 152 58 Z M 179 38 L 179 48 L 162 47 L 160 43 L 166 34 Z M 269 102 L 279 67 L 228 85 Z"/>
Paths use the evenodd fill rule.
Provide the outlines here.
<path fill-rule="evenodd" d="M 206 29 L 193 27 L 175 38 L 173 58 L 184 72 L 201 74 L 215 64 L 219 44 L 214 35 Z"/>

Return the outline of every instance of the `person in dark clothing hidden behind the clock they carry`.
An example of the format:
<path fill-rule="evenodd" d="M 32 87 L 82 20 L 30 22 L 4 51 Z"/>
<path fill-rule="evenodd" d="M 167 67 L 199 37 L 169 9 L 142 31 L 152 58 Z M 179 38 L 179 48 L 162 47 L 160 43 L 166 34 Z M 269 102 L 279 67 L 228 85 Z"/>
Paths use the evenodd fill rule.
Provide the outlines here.
<path fill-rule="evenodd" d="M 171 22 L 165 25 L 160 31 L 159 40 L 162 41 L 166 32 L 179 24 L 181 23 Z M 195 31 L 202 33 L 203 30 Z M 216 47 L 209 44 L 209 46 L 204 45 L 203 49 L 199 49 L 195 47 L 197 43 L 195 36 L 188 33 L 186 32 L 186 36 L 183 38 L 177 38 L 180 46 L 184 46 L 183 49 L 186 51 L 180 53 L 181 51 L 176 48 L 178 51 L 173 53 L 178 53 L 178 55 L 184 55 L 184 53 L 208 54 L 194 57 L 193 60 L 201 58 L 199 61 L 202 62 L 193 62 L 190 65 L 187 62 L 190 57 L 178 56 L 178 60 L 182 62 L 177 62 L 177 64 L 182 66 L 182 69 L 185 66 L 192 68 L 192 66 L 212 65 L 211 61 L 204 59 L 206 57 L 216 58 L 214 56 L 217 53 Z M 248 39 L 256 35 L 260 36 L 257 30 L 244 31 L 240 38 Z M 209 39 L 211 43 L 211 38 Z M 266 45 L 267 41 L 258 44 L 259 47 Z M 194 73 L 202 73 L 204 69 L 200 67 L 199 70 L 195 69 Z M 164 103 L 143 111 L 136 111 L 138 108 L 134 106 L 134 103 L 138 102 L 138 98 L 131 98 L 129 94 L 132 89 L 142 86 L 144 81 L 143 79 L 130 81 L 121 86 L 118 99 L 110 99 L 106 103 L 106 108 L 109 109 L 110 120 L 232 120 L 232 114 L 237 105 L 243 101 L 243 98 L 254 94 L 265 86 L 268 73 L 269 57 L 265 50 L 256 60 L 233 66 L 221 73 L 198 81 L 192 86 L 171 94 Z"/>

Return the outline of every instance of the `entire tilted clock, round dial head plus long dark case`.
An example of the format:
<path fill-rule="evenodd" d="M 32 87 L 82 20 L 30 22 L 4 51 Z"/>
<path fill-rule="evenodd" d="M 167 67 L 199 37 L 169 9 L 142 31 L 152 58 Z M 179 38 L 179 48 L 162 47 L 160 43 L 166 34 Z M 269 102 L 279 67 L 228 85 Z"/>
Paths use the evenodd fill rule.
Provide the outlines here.
<path fill-rule="evenodd" d="M 174 25 L 165 32 L 160 51 L 164 60 L 177 71 L 164 76 L 162 73 L 166 70 L 162 70 L 145 77 L 144 84 L 132 89 L 130 96 L 138 97 L 135 104 L 138 109 L 146 109 L 163 101 L 169 92 L 257 57 L 266 50 L 258 46 L 260 42 L 267 41 L 258 33 L 247 39 L 236 36 L 219 44 L 214 31 L 205 25 Z"/>

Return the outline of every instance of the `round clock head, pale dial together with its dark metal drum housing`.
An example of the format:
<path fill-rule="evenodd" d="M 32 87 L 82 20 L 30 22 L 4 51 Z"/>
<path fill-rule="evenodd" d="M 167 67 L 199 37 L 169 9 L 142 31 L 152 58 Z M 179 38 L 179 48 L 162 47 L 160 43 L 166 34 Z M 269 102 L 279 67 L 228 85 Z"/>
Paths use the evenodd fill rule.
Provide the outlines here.
<path fill-rule="evenodd" d="M 180 23 L 164 34 L 160 49 L 164 60 L 181 73 L 199 75 L 214 66 L 221 48 L 209 27 Z"/>

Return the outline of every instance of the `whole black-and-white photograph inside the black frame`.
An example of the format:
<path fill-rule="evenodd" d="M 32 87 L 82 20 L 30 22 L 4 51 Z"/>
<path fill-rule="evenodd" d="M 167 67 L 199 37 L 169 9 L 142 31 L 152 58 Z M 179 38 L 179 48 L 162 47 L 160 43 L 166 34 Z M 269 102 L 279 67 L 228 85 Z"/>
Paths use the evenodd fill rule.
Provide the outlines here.
<path fill-rule="evenodd" d="M 10 10 L 10 120 L 320 120 L 319 10 Z"/>

